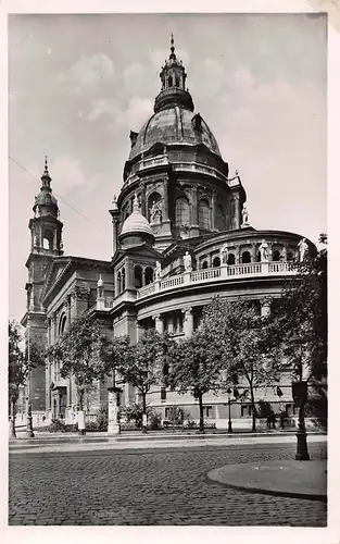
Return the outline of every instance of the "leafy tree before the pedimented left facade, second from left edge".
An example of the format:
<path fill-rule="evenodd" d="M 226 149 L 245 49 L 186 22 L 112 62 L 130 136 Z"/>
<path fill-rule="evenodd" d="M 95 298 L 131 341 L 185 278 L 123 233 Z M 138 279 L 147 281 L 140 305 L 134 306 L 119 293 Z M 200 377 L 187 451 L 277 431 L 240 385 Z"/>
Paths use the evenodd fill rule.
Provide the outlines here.
<path fill-rule="evenodd" d="M 80 410 L 84 409 L 85 393 L 91 390 L 102 364 L 101 336 L 100 322 L 81 314 L 48 350 L 48 355 L 61 364 L 62 378 L 75 376 Z"/>

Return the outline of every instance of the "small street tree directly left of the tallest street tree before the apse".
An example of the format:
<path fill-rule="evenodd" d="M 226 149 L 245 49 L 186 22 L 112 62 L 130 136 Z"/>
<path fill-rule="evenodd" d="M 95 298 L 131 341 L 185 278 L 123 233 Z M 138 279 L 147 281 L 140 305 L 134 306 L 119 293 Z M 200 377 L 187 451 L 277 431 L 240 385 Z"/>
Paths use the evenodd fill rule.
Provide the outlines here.
<path fill-rule="evenodd" d="M 192 391 L 199 400 L 200 431 L 204 432 L 203 396 L 221 387 L 221 344 L 212 342 L 209 329 L 202 327 L 188 338 L 173 342 L 169 361 L 167 383 L 181 394 Z"/>

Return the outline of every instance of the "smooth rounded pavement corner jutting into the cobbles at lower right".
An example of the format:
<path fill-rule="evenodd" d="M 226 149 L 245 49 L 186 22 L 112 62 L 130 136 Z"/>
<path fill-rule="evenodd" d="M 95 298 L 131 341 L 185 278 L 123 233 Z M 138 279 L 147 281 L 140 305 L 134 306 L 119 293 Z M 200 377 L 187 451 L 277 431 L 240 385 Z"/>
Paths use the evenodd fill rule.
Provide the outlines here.
<path fill-rule="evenodd" d="M 226 465 L 211 470 L 207 478 L 250 493 L 327 500 L 326 460 Z"/>

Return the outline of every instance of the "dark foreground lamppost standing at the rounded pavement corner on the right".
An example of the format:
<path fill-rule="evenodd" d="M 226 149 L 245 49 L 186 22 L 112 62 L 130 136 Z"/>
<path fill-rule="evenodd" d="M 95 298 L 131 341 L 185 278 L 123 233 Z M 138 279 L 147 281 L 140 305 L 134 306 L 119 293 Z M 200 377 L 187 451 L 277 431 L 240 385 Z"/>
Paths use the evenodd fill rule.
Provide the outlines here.
<path fill-rule="evenodd" d="M 297 454 L 295 459 L 299 461 L 308 461 L 310 454 L 307 449 L 307 434 L 305 431 L 304 406 L 307 400 L 308 390 L 307 382 L 303 380 L 302 372 L 302 344 L 303 338 L 299 334 L 294 334 L 290 342 L 295 351 L 295 368 L 298 381 L 292 381 L 291 390 L 294 404 L 299 407 L 299 429 L 297 432 Z"/>

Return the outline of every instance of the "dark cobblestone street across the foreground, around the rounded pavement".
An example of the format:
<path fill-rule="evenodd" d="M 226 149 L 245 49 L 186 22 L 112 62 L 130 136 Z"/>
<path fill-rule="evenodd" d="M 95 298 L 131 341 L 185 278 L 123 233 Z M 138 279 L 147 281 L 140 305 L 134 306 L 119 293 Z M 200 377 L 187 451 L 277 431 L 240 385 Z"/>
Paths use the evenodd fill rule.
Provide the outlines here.
<path fill-rule="evenodd" d="M 311 458 L 326 445 L 311 445 Z M 10 456 L 11 526 L 325 527 L 327 505 L 209 482 L 236 462 L 293 458 L 294 445 L 173 450 L 23 453 Z"/>

